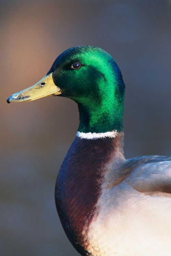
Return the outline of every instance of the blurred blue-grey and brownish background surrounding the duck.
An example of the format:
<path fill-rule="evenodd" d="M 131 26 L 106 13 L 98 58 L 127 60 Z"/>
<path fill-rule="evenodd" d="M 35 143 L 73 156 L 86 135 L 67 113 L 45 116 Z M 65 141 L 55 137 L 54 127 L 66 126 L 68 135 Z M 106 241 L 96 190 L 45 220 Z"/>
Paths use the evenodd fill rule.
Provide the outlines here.
<path fill-rule="evenodd" d="M 126 84 L 125 156 L 171 155 L 171 1 L 0 1 L 0 255 L 76 256 L 57 216 L 54 186 L 73 141 L 75 102 L 6 103 L 55 58 L 94 45 Z"/>

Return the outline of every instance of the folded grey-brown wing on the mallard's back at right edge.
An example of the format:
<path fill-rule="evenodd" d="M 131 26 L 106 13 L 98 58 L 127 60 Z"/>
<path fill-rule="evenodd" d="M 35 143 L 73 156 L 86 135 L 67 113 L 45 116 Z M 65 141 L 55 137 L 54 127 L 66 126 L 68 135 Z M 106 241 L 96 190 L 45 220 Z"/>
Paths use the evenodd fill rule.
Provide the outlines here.
<path fill-rule="evenodd" d="M 171 197 L 171 157 L 142 157 L 128 160 L 132 172 L 125 179 L 135 190 Z"/>

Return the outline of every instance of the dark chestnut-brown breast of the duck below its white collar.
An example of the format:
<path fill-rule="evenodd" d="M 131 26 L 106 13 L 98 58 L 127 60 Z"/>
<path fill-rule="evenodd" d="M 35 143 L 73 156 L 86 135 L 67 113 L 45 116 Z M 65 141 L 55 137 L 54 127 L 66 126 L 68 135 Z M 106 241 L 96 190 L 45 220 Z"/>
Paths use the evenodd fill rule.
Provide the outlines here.
<path fill-rule="evenodd" d="M 98 214 L 105 166 L 120 148 L 122 136 L 95 140 L 76 137 L 58 173 L 55 201 L 68 239 L 81 255 L 86 251 L 86 233 Z"/>

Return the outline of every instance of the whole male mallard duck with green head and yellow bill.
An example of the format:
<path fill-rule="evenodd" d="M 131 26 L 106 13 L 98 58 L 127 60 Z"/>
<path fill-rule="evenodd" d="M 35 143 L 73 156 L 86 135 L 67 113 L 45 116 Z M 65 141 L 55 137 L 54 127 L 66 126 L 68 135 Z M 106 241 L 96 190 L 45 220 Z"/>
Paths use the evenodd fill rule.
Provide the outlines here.
<path fill-rule="evenodd" d="M 124 91 L 107 52 L 76 46 L 7 102 L 52 95 L 78 104 L 80 123 L 57 176 L 55 202 L 81 255 L 170 256 L 171 157 L 124 158 Z"/>

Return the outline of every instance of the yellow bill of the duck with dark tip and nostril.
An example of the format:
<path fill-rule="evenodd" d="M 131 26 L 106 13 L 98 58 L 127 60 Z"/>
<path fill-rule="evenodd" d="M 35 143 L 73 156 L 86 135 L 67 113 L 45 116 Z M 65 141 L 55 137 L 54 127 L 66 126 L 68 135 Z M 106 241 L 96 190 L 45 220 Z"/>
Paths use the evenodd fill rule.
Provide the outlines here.
<path fill-rule="evenodd" d="M 54 84 L 52 73 L 50 73 L 44 76 L 37 84 L 11 95 L 6 101 L 8 103 L 31 101 L 58 94 L 61 94 L 61 89 Z"/>

